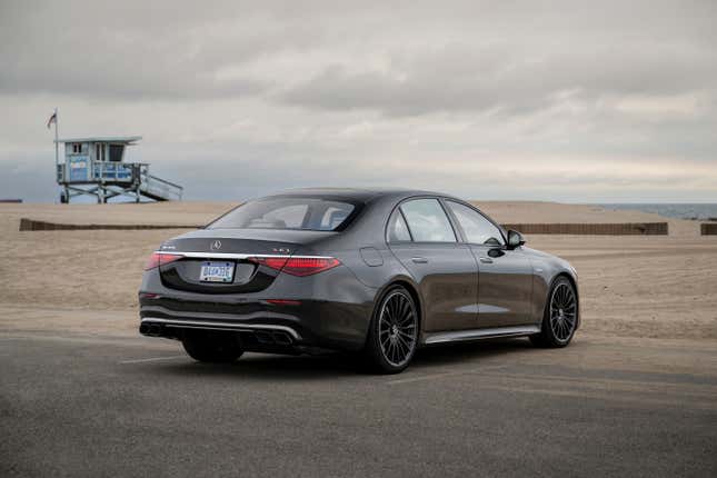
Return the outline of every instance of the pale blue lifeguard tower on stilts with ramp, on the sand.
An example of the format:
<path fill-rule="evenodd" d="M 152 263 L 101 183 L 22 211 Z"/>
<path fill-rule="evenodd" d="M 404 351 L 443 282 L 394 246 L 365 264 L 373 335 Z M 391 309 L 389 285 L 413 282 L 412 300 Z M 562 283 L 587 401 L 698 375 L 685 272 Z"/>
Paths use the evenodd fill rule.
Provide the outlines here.
<path fill-rule="evenodd" d="M 156 201 L 180 200 L 183 188 L 149 173 L 146 162 L 126 162 L 127 148 L 140 136 L 56 139 L 64 145 L 64 162 L 57 165 L 57 181 L 62 187 L 61 202 L 78 196 L 92 196 L 107 202 L 117 196 L 141 197 Z M 56 146 L 57 148 L 57 146 Z"/>

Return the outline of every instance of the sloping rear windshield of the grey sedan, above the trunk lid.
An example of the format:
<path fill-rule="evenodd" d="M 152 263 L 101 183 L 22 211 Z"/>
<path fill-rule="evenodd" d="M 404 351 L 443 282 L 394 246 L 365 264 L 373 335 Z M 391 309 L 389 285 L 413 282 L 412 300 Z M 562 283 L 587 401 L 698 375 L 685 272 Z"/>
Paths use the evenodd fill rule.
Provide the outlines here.
<path fill-rule="evenodd" d="M 358 203 L 323 198 L 280 197 L 249 201 L 228 212 L 208 229 L 301 229 L 336 231 L 348 226 Z"/>

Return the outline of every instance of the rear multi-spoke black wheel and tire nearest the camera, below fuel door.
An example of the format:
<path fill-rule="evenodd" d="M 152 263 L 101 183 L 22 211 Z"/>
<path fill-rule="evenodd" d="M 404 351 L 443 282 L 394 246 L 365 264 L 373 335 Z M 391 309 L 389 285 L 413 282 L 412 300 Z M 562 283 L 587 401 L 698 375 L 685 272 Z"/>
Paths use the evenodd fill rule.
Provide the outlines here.
<path fill-rule="evenodd" d="M 401 286 L 386 291 L 374 311 L 364 352 L 372 371 L 399 374 L 418 348 L 418 309 Z"/>

